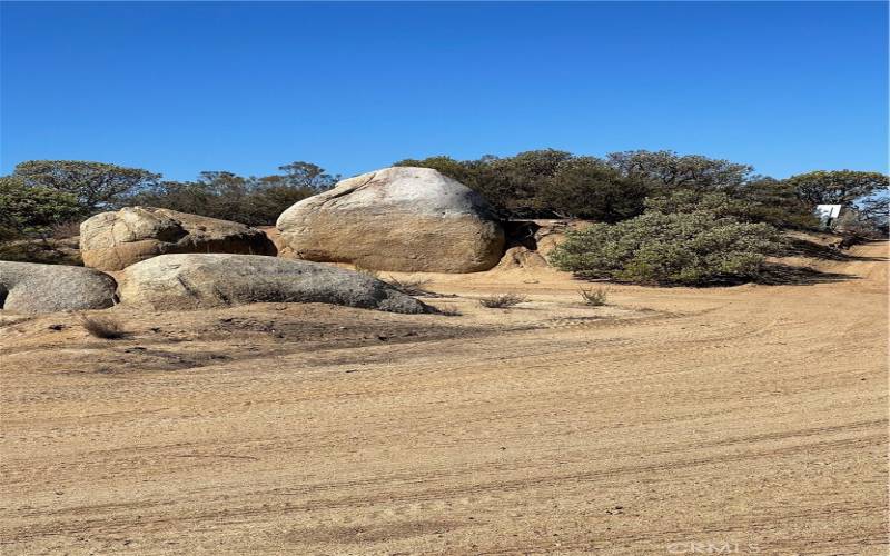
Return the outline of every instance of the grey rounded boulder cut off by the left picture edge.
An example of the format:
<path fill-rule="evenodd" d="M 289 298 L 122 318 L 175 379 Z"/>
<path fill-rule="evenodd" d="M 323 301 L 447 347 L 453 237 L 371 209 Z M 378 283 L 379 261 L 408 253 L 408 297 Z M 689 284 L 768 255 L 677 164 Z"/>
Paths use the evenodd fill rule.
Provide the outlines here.
<path fill-rule="evenodd" d="M 105 309 L 117 284 L 83 267 L 0 260 L 0 308 L 17 312 Z"/>

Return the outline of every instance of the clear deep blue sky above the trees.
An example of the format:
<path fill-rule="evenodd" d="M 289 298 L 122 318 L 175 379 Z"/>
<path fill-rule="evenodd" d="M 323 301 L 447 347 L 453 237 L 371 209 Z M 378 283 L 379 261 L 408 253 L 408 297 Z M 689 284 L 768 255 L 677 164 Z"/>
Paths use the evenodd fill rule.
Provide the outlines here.
<path fill-rule="evenodd" d="M 673 149 L 887 171 L 884 2 L 12 3 L 0 171 Z"/>

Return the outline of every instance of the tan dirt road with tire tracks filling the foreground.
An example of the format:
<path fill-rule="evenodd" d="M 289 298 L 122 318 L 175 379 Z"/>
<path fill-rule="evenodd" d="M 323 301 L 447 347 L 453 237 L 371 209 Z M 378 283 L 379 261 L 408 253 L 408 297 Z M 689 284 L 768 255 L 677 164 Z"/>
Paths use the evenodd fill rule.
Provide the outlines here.
<path fill-rule="evenodd" d="M 512 270 L 438 277 L 462 316 L 2 317 L 1 552 L 887 554 L 887 245 L 853 254 L 606 308 Z"/>

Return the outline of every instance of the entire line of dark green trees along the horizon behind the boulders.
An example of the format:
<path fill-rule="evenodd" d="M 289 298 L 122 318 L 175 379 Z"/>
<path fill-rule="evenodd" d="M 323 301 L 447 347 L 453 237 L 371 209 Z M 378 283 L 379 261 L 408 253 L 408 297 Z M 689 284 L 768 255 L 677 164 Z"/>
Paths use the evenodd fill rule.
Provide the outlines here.
<path fill-rule="evenodd" d="M 670 205 L 673 199 L 674 206 L 731 206 L 741 220 L 792 229 L 817 227 L 815 206 L 837 203 L 857 207 L 864 221 L 887 229 L 888 177 L 880 172 L 817 170 L 774 179 L 755 173 L 750 165 L 669 150 L 599 158 L 542 149 L 474 160 L 405 159 L 394 166 L 436 169 L 487 199 L 502 219 L 558 217 L 614 224 L 642 215 L 647 202 Z M 278 170 L 260 177 L 205 171 L 191 181 L 174 181 L 105 162 L 21 162 L 0 177 L 0 240 L 40 236 L 53 226 L 131 205 L 270 225 L 293 203 L 340 179 L 310 162 L 296 161 Z"/>

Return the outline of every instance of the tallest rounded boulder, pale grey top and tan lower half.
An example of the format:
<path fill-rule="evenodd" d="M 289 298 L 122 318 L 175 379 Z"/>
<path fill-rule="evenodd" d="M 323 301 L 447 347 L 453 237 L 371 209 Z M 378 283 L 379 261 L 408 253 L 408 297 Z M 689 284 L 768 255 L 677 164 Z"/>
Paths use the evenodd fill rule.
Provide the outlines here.
<path fill-rule="evenodd" d="M 376 270 L 474 272 L 497 265 L 504 231 L 485 200 L 429 168 L 343 180 L 278 217 L 297 258 Z"/>

